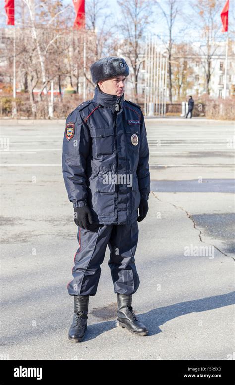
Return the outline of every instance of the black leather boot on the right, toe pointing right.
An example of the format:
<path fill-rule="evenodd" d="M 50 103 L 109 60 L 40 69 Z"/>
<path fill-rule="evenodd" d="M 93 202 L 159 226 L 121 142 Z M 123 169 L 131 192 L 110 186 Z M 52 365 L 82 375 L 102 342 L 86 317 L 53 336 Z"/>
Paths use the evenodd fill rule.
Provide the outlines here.
<path fill-rule="evenodd" d="M 131 333 L 136 335 L 144 336 L 148 334 L 147 327 L 141 323 L 135 313 L 133 312 L 133 308 L 131 306 L 132 302 L 132 294 L 117 294 L 117 320 L 115 321 L 116 326 L 122 326 L 122 328 L 126 328 Z"/>

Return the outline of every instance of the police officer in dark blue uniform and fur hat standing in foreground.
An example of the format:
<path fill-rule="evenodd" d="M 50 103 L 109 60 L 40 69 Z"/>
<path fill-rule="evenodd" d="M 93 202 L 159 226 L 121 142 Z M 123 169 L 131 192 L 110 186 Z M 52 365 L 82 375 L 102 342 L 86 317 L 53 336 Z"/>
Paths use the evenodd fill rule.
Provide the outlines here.
<path fill-rule="evenodd" d="M 148 333 L 131 306 L 140 283 L 134 258 L 138 222 L 146 217 L 150 193 L 144 117 L 139 105 L 124 99 L 129 68 L 123 58 L 102 58 L 90 70 L 94 98 L 68 115 L 63 139 L 63 177 L 79 242 L 67 285 L 74 296 L 72 342 L 84 338 L 89 296 L 96 294 L 107 245 L 117 293 L 116 326 L 140 336 Z"/>

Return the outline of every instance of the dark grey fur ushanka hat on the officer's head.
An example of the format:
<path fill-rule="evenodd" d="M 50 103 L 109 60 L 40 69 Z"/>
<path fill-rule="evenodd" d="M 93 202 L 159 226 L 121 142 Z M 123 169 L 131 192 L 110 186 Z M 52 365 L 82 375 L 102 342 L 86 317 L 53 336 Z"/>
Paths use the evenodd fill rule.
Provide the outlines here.
<path fill-rule="evenodd" d="M 90 71 L 92 81 L 95 84 L 100 80 L 109 79 L 118 75 L 127 77 L 130 72 L 125 59 L 117 58 L 117 56 L 108 56 L 97 60 L 91 65 Z"/>

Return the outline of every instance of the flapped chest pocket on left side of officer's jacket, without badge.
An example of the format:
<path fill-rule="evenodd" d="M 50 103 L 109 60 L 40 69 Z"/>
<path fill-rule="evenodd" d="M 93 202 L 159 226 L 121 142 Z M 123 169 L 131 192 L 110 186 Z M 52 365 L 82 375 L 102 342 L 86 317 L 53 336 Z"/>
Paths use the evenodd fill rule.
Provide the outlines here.
<path fill-rule="evenodd" d="M 115 135 L 114 128 L 90 128 L 92 138 L 92 154 L 98 158 L 101 155 L 110 155 L 114 153 Z"/>

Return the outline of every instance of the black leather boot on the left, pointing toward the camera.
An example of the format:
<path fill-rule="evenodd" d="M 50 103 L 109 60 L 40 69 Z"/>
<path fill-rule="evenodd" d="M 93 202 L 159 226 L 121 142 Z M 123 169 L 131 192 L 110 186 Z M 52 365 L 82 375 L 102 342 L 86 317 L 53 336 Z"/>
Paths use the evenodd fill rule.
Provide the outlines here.
<path fill-rule="evenodd" d="M 87 329 L 89 295 L 74 296 L 73 323 L 68 332 L 68 339 L 71 342 L 81 342 Z"/>

